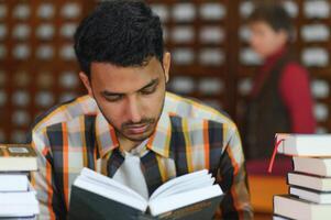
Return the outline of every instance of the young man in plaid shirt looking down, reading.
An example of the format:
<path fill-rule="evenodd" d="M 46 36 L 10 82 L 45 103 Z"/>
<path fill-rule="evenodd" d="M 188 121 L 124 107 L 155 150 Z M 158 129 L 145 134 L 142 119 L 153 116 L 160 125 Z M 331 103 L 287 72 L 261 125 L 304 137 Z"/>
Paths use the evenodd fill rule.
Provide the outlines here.
<path fill-rule="evenodd" d="M 53 108 L 32 130 L 42 219 L 66 219 L 82 167 L 144 197 L 208 168 L 225 193 L 216 218 L 252 218 L 238 129 L 224 114 L 166 92 L 170 54 L 145 3 L 101 2 L 77 29 L 75 51 L 88 96 Z"/>

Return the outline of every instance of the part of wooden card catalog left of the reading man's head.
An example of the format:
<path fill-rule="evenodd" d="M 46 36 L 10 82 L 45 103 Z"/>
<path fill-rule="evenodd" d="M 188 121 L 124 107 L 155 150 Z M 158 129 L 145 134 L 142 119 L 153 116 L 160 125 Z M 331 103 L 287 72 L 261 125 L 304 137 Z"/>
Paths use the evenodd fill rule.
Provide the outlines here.
<path fill-rule="evenodd" d="M 87 2 L 0 1 L 0 142 L 24 142 L 37 114 L 84 92 L 73 34 Z"/>

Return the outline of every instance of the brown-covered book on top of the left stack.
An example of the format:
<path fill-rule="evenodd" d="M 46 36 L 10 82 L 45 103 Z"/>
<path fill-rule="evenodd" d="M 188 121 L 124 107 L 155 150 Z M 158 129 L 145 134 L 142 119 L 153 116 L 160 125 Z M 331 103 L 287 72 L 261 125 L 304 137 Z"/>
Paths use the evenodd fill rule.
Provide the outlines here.
<path fill-rule="evenodd" d="M 0 172 L 36 170 L 36 157 L 29 144 L 0 144 Z"/>

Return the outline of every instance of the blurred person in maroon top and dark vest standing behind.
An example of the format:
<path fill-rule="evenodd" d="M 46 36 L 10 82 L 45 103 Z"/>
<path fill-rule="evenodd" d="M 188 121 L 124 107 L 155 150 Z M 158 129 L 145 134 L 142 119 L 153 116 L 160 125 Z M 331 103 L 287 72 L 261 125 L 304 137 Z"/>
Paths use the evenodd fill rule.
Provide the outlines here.
<path fill-rule="evenodd" d="M 291 19 L 280 2 L 257 4 L 247 19 L 250 44 L 263 58 L 244 123 L 246 158 L 271 157 L 275 133 L 313 133 L 309 76 L 290 51 Z"/>

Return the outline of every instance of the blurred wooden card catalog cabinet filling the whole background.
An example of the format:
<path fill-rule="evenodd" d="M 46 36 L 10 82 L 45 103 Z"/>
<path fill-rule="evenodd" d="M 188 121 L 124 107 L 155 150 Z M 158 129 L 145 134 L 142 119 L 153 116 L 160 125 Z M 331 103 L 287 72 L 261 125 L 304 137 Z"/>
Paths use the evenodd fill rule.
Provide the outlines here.
<path fill-rule="evenodd" d="M 240 110 L 261 58 L 244 24 L 247 0 L 147 0 L 163 22 L 173 55 L 168 89 L 224 109 Z M 0 1 L 0 142 L 23 142 L 37 114 L 85 92 L 73 34 L 96 0 Z M 318 132 L 331 131 L 331 0 L 287 0 L 295 48 L 311 76 Z"/>

